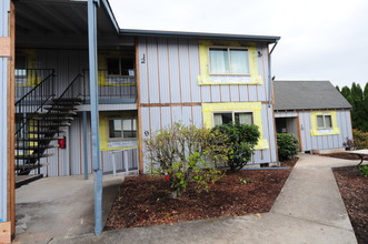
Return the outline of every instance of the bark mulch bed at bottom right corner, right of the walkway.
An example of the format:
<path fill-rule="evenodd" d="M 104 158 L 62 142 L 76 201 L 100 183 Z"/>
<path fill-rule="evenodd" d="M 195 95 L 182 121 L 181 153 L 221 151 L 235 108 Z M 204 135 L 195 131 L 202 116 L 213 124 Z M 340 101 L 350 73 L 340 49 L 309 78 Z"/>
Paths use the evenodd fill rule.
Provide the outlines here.
<path fill-rule="evenodd" d="M 332 170 L 358 243 L 368 243 L 368 179 L 356 166 Z"/>

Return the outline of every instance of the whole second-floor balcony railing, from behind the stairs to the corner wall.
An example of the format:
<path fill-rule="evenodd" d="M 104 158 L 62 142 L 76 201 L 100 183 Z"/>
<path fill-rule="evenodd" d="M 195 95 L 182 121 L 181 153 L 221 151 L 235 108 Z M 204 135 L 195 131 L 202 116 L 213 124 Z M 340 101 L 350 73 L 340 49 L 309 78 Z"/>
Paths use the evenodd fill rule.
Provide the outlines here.
<path fill-rule="evenodd" d="M 52 75 L 51 75 L 52 74 Z M 82 78 L 73 84 L 73 92 L 80 94 L 83 103 L 90 103 L 89 71 L 81 71 Z M 40 102 L 43 96 L 58 96 L 77 74 L 68 75 L 54 70 L 22 69 L 16 70 L 16 101 L 31 92 L 32 101 Z M 52 79 L 50 79 L 52 78 Z M 42 83 L 42 85 L 40 85 Z M 135 70 L 119 74 L 98 70 L 98 94 L 100 104 L 136 103 L 137 84 Z"/>

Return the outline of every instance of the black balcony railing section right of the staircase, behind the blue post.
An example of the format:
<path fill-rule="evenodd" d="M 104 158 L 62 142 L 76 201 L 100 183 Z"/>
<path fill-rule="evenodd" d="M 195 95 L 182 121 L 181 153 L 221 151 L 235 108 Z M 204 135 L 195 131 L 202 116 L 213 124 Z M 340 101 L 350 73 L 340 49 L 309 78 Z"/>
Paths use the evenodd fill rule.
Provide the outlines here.
<path fill-rule="evenodd" d="M 122 75 L 109 74 L 108 70 L 98 70 L 99 103 L 135 103 L 137 101 L 135 71 L 127 70 L 122 73 Z M 90 103 L 88 70 L 83 70 L 83 78 L 81 94 L 84 103 Z"/>

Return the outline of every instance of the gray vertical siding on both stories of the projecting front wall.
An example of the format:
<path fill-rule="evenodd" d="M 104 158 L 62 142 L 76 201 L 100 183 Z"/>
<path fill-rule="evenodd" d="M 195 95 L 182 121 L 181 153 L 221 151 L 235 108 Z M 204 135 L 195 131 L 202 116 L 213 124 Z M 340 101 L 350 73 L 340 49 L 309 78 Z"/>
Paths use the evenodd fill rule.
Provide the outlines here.
<path fill-rule="evenodd" d="M 202 110 L 200 105 L 197 105 L 198 103 L 266 102 L 268 100 L 268 50 L 266 45 L 259 45 L 257 51 L 262 53 L 262 57 L 258 58 L 258 72 L 263 78 L 262 84 L 199 85 L 198 40 L 139 38 L 137 50 L 139 60 L 146 58 L 147 61 L 139 64 L 140 101 L 142 104 L 151 104 L 142 106 L 140 130 L 148 131 L 151 135 L 178 121 L 202 128 Z M 161 105 L 152 106 L 152 103 L 161 103 Z M 169 103 L 181 103 L 181 105 L 169 105 Z M 272 108 L 262 105 L 261 130 L 269 143 L 269 149 L 256 151 L 253 163 L 269 163 L 277 160 L 272 113 Z M 143 139 L 148 136 L 143 133 Z M 145 164 L 147 163 L 145 159 Z"/>

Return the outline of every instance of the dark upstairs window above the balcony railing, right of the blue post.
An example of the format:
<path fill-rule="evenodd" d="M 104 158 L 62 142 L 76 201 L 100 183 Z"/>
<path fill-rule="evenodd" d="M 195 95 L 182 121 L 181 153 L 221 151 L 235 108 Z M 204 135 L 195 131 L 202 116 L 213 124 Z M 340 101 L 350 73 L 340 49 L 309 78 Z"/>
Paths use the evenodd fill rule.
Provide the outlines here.
<path fill-rule="evenodd" d="M 108 75 L 135 77 L 135 59 L 108 58 Z"/>

